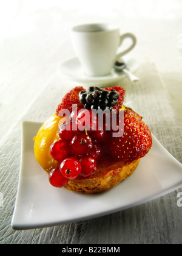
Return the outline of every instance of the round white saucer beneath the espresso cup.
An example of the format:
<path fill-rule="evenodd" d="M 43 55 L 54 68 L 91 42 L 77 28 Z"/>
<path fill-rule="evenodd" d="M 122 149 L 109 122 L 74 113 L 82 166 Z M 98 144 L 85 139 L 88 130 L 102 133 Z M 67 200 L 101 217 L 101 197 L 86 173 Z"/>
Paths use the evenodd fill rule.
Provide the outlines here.
<path fill-rule="evenodd" d="M 133 59 L 126 62 L 126 64 L 127 68 L 129 68 L 131 72 L 135 71 L 138 66 L 136 64 L 136 60 Z M 79 82 L 79 84 L 83 84 L 85 86 L 95 85 L 97 87 L 117 84 L 126 76 L 123 71 L 117 72 L 114 68 L 112 68 L 112 71 L 108 76 L 87 76 L 84 74 L 81 63 L 76 57 L 59 65 L 58 72 L 69 80 Z"/>

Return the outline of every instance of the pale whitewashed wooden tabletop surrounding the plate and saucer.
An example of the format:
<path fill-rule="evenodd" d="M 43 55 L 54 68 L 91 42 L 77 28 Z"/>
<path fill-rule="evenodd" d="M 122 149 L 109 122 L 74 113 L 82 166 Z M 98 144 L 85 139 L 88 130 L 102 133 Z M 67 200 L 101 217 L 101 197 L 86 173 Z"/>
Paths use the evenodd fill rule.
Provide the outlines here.
<path fill-rule="evenodd" d="M 137 2 L 137 3 L 136 3 Z M 158 140 L 182 163 L 182 30 L 180 1 L 1 1 L 0 243 L 181 243 L 177 193 L 102 218 L 37 230 L 10 228 L 21 161 L 21 121 L 45 121 L 78 83 L 58 74 L 75 56 L 74 24 L 109 22 L 133 32 L 140 81 L 126 77 L 132 100 Z M 145 107 L 143 107 L 145 106 Z"/>

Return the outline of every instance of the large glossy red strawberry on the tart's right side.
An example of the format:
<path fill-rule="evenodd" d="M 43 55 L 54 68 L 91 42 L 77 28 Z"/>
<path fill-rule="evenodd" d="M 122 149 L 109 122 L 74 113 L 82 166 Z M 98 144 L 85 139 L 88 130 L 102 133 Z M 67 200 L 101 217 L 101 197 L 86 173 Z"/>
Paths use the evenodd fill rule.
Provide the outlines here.
<path fill-rule="evenodd" d="M 149 127 L 141 116 L 130 108 L 124 110 L 124 133 L 122 137 L 112 137 L 109 131 L 107 152 L 113 159 L 123 160 L 125 163 L 144 157 L 152 146 Z"/>

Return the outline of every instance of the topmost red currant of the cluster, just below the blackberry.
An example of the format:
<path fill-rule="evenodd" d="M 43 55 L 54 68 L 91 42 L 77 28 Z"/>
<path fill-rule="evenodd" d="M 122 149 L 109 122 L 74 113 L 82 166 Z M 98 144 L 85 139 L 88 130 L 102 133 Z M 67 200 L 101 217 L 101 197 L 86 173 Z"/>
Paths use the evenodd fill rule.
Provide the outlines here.
<path fill-rule="evenodd" d="M 66 122 L 59 126 L 59 137 L 62 140 L 71 140 L 76 132 L 78 132 L 77 124 L 73 122 Z"/>

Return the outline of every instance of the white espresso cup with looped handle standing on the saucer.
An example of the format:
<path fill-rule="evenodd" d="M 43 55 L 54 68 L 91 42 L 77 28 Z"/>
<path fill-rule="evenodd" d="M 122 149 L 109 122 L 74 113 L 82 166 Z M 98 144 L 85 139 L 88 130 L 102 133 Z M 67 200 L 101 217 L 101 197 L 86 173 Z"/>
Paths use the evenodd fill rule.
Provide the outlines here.
<path fill-rule="evenodd" d="M 116 60 L 136 44 L 135 35 L 120 35 L 120 27 L 104 23 L 75 26 L 71 30 L 71 38 L 83 71 L 88 76 L 107 76 Z M 125 38 L 131 38 L 132 44 L 117 54 Z"/>

